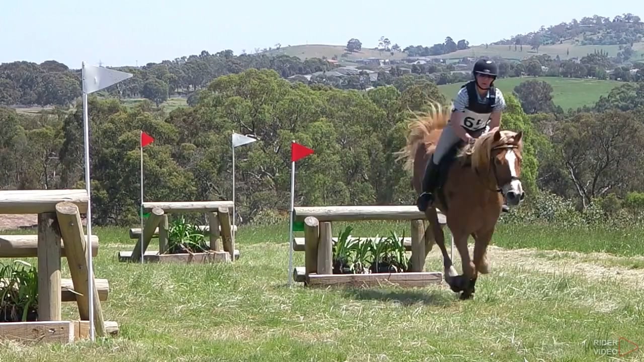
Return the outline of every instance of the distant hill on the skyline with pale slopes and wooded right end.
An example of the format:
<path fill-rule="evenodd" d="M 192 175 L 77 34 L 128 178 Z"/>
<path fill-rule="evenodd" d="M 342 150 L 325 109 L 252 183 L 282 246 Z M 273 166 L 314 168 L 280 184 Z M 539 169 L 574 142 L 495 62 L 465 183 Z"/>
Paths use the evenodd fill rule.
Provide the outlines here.
<path fill-rule="evenodd" d="M 364 39 L 363 39 L 364 40 Z M 542 26 L 535 32 L 518 34 L 510 39 L 488 44 L 470 46 L 466 39 L 454 41 L 446 36 L 443 43 L 430 46 L 410 45 L 402 48 L 393 41 L 381 37 L 378 46 L 366 48 L 359 39 L 352 38 L 346 45 L 295 45 L 264 49 L 265 53 L 283 53 L 300 59 L 326 57 L 339 62 L 354 61 L 368 57 L 381 59 L 403 59 L 405 57 L 426 57 L 461 59 L 463 57 L 502 57 L 505 59 L 526 59 L 531 55 L 548 54 L 560 59 L 581 58 L 589 53 L 606 52 L 617 57 L 619 62 L 644 59 L 644 23 L 633 14 L 601 17 L 583 17 L 570 23 Z M 256 49 L 256 52 L 259 52 Z"/>

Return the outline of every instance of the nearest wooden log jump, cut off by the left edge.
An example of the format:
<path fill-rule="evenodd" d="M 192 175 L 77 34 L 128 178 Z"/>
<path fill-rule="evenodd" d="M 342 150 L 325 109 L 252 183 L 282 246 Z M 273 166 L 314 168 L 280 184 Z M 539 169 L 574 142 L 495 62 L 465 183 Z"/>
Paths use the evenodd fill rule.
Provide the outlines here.
<path fill-rule="evenodd" d="M 87 191 L 81 189 L 0 191 L 0 214 L 38 214 L 37 235 L 0 236 L 0 258 L 37 258 L 38 321 L 0 323 L 0 336 L 62 343 L 88 338 L 90 293 L 96 335 L 118 334 L 118 323 L 104 321 L 100 305 L 108 299 L 108 280 L 95 279 L 88 291 L 88 278 L 94 276 L 87 265 L 81 222 L 87 204 Z M 90 241 L 95 256 L 99 238 L 92 235 Z M 61 258 L 66 258 L 71 278 L 61 278 Z M 80 320 L 62 320 L 64 301 L 76 301 Z"/>

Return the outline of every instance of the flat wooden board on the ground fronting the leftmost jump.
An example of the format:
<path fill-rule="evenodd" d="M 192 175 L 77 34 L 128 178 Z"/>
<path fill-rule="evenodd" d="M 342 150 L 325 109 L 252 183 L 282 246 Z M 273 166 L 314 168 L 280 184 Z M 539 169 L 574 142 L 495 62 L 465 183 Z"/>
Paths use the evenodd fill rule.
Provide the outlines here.
<path fill-rule="evenodd" d="M 71 343 L 74 325 L 71 321 L 0 323 L 0 337 L 22 343 Z"/>

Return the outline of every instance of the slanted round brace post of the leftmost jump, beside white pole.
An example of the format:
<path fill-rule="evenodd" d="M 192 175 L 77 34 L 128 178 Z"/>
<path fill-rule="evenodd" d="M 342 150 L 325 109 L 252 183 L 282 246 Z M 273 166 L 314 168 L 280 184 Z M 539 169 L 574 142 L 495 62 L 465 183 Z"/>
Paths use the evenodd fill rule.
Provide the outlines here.
<path fill-rule="evenodd" d="M 59 202 L 56 204 L 56 216 L 62 238 L 65 240 L 65 251 L 67 262 L 70 266 L 71 281 L 77 295 L 76 300 L 79 307 L 79 314 L 82 320 L 90 319 L 90 301 L 88 295 L 93 293 L 94 323 L 96 334 L 99 337 L 105 335 L 105 321 L 103 310 L 100 307 L 99 292 L 94 283 L 93 290 L 88 291 L 88 281 L 94 278 L 92 271 L 88 269 L 86 254 L 85 233 L 82 230 L 81 213 L 77 205 L 71 202 Z"/>

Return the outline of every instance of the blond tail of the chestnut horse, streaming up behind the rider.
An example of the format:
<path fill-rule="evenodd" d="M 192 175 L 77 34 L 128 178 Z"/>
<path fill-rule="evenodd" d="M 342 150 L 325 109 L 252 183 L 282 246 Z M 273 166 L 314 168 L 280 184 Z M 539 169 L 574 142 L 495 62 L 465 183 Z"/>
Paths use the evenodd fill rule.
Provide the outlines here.
<path fill-rule="evenodd" d="M 438 102 L 430 103 L 431 111 L 415 112 L 415 119 L 410 122 L 409 133 L 406 137 L 405 146 L 395 153 L 398 157 L 396 160 L 404 160 L 403 168 L 406 171 L 413 169 L 413 157 L 421 144 L 425 149 L 429 149 L 433 143 L 430 134 L 436 129 L 446 126 L 451 116 L 451 106 L 446 107 Z"/>

